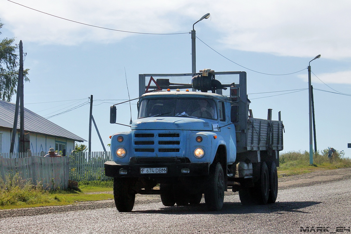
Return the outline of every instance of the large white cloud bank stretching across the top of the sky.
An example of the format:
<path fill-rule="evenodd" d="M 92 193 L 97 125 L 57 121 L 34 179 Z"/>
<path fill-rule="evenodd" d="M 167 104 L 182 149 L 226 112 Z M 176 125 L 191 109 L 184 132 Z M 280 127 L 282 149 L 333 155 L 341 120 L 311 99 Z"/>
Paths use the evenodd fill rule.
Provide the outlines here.
<path fill-rule="evenodd" d="M 349 0 L 16 1 L 87 24 L 151 33 L 188 32 L 193 22 L 210 12 L 212 20 L 201 21 L 197 28 L 207 28 L 224 48 L 282 56 L 322 54 L 331 59 L 351 54 Z M 16 37 L 45 44 L 108 43 L 131 36 L 57 19 L 8 1 L 3 1 L 0 15 Z"/>

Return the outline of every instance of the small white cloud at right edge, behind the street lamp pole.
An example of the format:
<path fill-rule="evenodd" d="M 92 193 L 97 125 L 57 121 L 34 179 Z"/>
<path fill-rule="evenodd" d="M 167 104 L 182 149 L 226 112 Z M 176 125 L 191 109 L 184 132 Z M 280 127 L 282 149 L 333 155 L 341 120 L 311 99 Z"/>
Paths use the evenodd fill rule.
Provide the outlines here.
<path fill-rule="evenodd" d="M 350 84 L 351 85 L 351 71 L 334 72 L 334 73 L 322 73 L 316 74 L 320 80 L 328 84 Z M 299 78 L 308 82 L 308 75 L 298 75 Z M 316 76 L 311 74 L 312 83 L 322 83 Z"/>

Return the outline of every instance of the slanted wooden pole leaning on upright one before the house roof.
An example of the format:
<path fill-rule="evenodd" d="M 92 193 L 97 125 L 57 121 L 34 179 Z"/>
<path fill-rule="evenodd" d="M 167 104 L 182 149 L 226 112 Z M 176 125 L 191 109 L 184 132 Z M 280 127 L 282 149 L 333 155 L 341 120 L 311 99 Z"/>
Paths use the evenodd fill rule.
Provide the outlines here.
<path fill-rule="evenodd" d="M 20 96 L 21 96 L 21 80 L 23 80 L 23 45 L 22 40 L 20 40 L 20 69 L 18 71 L 18 82 L 17 82 L 17 94 L 16 94 L 16 107 L 15 107 L 15 118 L 13 120 L 13 128 L 12 128 L 12 138 L 10 145 L 10 153 L 13 153 L 13 149 L 15 146 L 15 139 L 17 133 L 17 122 L 18 122 L 18 109 L 20 104 Z"/>

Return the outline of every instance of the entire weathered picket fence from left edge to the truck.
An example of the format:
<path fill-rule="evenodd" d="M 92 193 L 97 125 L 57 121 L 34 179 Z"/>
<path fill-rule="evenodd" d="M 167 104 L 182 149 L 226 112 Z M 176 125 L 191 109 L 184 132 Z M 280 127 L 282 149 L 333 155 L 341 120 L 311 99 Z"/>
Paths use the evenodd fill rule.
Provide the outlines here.
<path fill-rule="evenodd" d="M 40 182 L 47 188 L 66 189 L 68 179 L 74 181 L 111 179 L 105 176 L 104 169 L 104 163 L 112 160 L 110 152 L 79 152 L 55 158 L 42 156 L 44 156 L 42 153 L 0 153 L 2 180 L 19 176 L 22 180 L 31 180 L 34 185 Z"/>

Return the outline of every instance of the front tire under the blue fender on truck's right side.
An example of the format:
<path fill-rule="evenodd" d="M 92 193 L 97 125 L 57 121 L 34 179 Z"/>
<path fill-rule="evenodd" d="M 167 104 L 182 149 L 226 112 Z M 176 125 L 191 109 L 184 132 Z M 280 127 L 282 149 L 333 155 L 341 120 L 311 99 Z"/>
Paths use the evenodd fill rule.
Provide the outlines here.
<path fill-rule="evenodd" d="M 220 210 L 224 201 L 224 173 L 221 164 L 210 166 L 210 175 L 205 190 L 205 203 L 209 210 Z"/>

